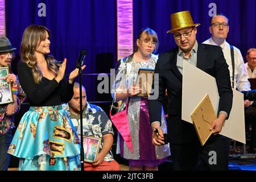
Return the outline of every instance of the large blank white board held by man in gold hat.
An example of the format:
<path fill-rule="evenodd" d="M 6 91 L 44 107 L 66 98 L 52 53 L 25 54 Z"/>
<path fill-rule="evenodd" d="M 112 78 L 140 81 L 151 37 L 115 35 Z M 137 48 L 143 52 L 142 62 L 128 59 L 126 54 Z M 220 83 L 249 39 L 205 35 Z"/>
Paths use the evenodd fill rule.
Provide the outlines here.
<path fill-rule="evenodd" d="M 209 94 L 214 111 L 217 113 L 219 100 L 218 89 L 214 77 L 186 61 L 183 63 L 181 119 L 192 123 L 190 115 L 204 98 L 205 94 Z M 237 90 L 233 89 L 232 110 L 220 134 L 241 143 L 245 143 L 246 141 L 243 94 Z"/>

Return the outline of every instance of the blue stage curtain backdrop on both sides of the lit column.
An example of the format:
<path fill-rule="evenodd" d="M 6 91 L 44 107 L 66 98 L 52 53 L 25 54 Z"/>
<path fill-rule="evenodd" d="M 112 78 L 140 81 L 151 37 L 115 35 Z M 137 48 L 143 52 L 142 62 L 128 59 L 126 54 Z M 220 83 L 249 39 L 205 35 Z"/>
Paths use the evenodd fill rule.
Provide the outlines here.
<path fill-rule="evenodd" d="M 46 5 L 44 15 L 43 6 Z M 134 0 L 134 41 L 143 27 L 154 29 L 159 36 L 159 52 L 175 46 L 170 30 L 170 14 L 189 10 L 197 28 L 197 40 L 210 37 L 209 14 L 221 12 L 229 17 L 227 41 L 240 48 L 243 57 L 248 48 L 256 47 L 256 1 L 254 0 Z M 39 13 L 39 14 L 38 14 Z M 51 53 L 57 60 L 68 59 L 67 73 L 75 67 L 81 49 L 87 50 L 83 84 L 90 101 L 111 100 L 97 94 L 97 75 L 109 73 L 117 60 L 117 20 L 115 0 L 8 0 L 6 1 L 6 34 L 19 49 L 24 28 L 43 24 L 52 32 Z"/>

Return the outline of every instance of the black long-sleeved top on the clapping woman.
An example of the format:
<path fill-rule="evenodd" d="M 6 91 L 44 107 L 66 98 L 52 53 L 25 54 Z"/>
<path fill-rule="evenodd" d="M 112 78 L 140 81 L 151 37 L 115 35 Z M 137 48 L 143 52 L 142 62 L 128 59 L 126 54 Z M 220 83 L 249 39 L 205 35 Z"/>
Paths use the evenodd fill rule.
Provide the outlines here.
<path fill-rule="evenodd" d="M 43 77 L 42 81 L 36 84 L 32 76 L 32 68 L 26 63 L 19 64 L 18 76 L 31 106 L 56 106 L 61 102 L 69 102 L 73 97 L 74 84 L 69 84 L 65 77 L 59 83 L 54 78 L 48 80 Z"/>

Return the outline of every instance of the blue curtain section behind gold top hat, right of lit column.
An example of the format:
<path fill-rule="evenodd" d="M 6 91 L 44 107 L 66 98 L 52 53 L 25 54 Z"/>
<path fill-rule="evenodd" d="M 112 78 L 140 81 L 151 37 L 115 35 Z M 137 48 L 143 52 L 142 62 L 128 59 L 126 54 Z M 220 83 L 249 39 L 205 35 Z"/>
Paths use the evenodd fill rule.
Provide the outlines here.
<path fill-rule="evenodd" d="M 198 42 L 210 38 L 209 7 L 215 3 L 217 13 L 223 13 L 229 18 L 229 34 L 227 42 L 241 50 L 243 57 L 247 49 L 256 47 L 256 1 L 255 0 L 134 0 L 134 39 L 143 27 L 154 29 L 159 36 L 159 52 L 175 46 L 172 34 L 166 34 L 171 29 L 170 14 L 189 10 L 195 23 L 201 23 L 197 28 Z"/>

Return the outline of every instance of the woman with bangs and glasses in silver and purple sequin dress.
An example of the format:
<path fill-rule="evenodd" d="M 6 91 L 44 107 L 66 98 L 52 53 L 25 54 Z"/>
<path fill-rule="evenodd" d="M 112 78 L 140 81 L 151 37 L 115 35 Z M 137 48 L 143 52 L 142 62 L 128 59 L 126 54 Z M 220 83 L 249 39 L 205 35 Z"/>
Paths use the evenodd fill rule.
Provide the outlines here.
<path fill-rule="evenodd" d="M 142 88 L 136 86 L 140 68 L 154 69 L 158 56 L 152 54 L 158 49 L 158 36 L 150 28 L 142 29 L 136 40 L 135 52 L 117 62 L 115 83 L 112 88 L 113 97 L 117 101 L 127 103 L 127 118 L 132 139 L 133 152 L 119 135 L 121 156 L 129 159 L 130 170 L 157 170 L 170 155 L 169 144 L 154 146 L 152 129 L 148 115 L 147 97 L 138 97 Z M 162 129 L 167 133 L 166 118 L 162 113 Z"/>

